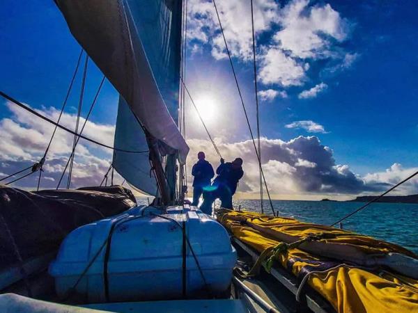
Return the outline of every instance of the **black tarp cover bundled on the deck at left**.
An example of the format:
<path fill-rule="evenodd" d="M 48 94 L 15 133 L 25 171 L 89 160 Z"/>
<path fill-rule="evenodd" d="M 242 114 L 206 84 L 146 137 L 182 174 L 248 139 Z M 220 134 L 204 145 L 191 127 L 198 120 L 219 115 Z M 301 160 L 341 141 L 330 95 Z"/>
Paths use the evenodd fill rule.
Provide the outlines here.
<path fill-rule="evenodd" d="M 53 252 L 75 228 L 136 205 L 122 186 L 23 191 L 0 185 L 0 270 Z M 17 254 L 18 253 L 18 254 Z"/>

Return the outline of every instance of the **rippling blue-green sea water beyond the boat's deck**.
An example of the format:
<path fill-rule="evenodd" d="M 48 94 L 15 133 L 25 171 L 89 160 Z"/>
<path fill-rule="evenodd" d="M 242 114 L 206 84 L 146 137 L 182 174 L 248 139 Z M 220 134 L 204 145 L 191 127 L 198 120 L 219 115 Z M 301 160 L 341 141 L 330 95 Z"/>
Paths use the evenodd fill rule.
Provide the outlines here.
<path fill-rule="evenodd" d="M 146 204 L 146 200 L 138 202 Z M 322 225 L 331 225 L 364 205 L 363 202 L 293 200 L 272 200 L 272 204 L 279 216 Z M 248 211 L 261 211 L 260 200 L 235 200 L 233 205 L 235 209 L 241 206 Z M 263 207 L 265 214 L 272 214 L 268 200 L 264 200 Z M 372 203 L 343 220 L 342 226 L 344 230 L 396 243 L 418 253 L 418 204 Z"/>

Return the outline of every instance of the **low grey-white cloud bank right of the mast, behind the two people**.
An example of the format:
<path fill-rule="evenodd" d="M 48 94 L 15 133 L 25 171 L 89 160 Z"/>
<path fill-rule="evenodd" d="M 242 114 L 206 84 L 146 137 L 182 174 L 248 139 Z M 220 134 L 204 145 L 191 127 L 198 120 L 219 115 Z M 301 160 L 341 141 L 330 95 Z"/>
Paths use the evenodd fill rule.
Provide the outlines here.
<path fill-rule="evenodd" d="M 191 168 L 196 154 L 205 151 L 213 166 L 219 164 L 211 145 L 206 140 L 190 139 L 190 155 L 187 166 Z M 219 150 L 226 161 L 242 157 L 245 175 L 240 181 L 239 191 L 257 193 L 258 162 L 254 156 L 251 141 L 237 143 L 218 143 Z M 357 194 L 381 191 L 388 185 L 384 182 L 365 182 L 346 165 L 336 164 L 332 150 L 322 145 L 316 136 L 299 136 L 291 141 L 261 138 L 261 155 L 265 178 L 270 193 L 309 194 L 334 193 Z M 188 177 L 192 182 L 192 177 Z"/>

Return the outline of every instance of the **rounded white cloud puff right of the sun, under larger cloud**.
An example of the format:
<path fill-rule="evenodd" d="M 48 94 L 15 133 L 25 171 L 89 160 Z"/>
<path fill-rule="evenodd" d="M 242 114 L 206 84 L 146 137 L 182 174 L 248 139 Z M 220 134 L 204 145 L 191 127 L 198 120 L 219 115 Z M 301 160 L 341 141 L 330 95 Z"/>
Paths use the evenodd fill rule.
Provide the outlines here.
<path fill-rule="evenodd" d="M 281 49 L 265 50 L 261 58 L 259 77 L 262 83 L 276 83 L 284 87 L 300 86 L 306 79 L 303 65 L 286 56 Z"/>

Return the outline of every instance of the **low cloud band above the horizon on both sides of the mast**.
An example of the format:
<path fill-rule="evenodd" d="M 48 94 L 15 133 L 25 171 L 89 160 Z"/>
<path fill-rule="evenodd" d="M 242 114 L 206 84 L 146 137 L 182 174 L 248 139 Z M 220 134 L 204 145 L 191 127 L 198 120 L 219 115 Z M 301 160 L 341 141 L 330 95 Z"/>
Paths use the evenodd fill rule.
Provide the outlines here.
<path fill-rule="evenodd" d="M 13 115 L 0 120 L 0 177 L 31 166 L 42 157 L 53 127 L 32 118 L 25 111 L 8 106 Z M 57 118 L 53 108 L 42 110 L 49 118 Z M 65 126 L 74 127 L 75 115 L 63 115 Z M 90 128 L 90 129 L 89 129 Z M 86 134 L 112 145 L 114 129 L 109 125 L 88 124 Z M 239 191 L 258 191 L 258 162 L 251 141 L 226 143 L 225 138 L 215 138 L 222 156 L 231 161 L 235 157 L 244 159 L 245 176 L 241 179 Z M 42 188 L 55 188 L 70 154 L 72 136 L 57 131 L 50 153 L 44 166 Z M 215 152 L 211 153 L 211 143 L 201 139 L 189 139 L 191 148 L 187 159 L 188 168 L 196 161 L 197 152 L 206 151 L 206 156 L 214 166 L 219 164 Z M 89 143 L 81 143 L 75 156 L 72 173 L 72 187 L 98 185 L 109 167 L 111 154 L 97 150 Z M 316 136 L 299 136 L 290 141 L 261 138 L 262 163 L 270 192 L 281 194 L 357 194 L 376 193 L 396 184 L 418 168 L 403 168 L 395 163 L 385 172 L 359 177 L 347 165 L 337 164 L 332 150 L 320 143 Z M 65 182 L 64 177 L 64 182 Z M 122 178 L 115 177 L 116 183 Z M 188 177 L 192 182 L 192 177 Z M 22 179 L 15 186 L 33 188 L 37 175 Z M 418 180 L 413 179 L 397 193 L 417 193 Z"/>

